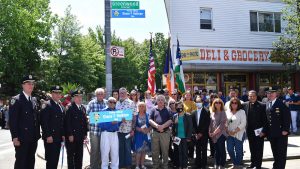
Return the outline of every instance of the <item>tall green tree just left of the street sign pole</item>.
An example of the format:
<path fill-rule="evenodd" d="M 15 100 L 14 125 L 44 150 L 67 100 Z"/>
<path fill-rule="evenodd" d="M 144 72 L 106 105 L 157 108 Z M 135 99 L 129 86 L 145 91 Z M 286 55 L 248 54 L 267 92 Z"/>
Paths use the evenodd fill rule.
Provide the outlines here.
<path fill-rule="evenodd" d="M 54 32 L 54 50 L 42 64 L 48 86 L 71 83 L 79 84 L 87 92 L 103 85 L 104 52 L 101 27 L 89 34 L 80 33 L 76 16 L 71 14 L 71 6 L 65 16 L 57 22 Z"/>

